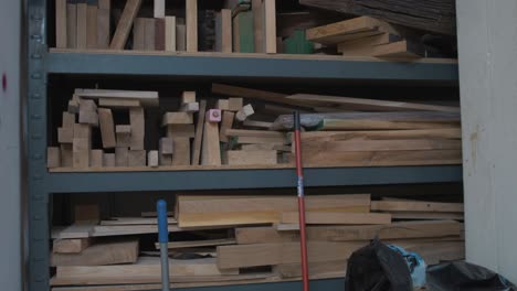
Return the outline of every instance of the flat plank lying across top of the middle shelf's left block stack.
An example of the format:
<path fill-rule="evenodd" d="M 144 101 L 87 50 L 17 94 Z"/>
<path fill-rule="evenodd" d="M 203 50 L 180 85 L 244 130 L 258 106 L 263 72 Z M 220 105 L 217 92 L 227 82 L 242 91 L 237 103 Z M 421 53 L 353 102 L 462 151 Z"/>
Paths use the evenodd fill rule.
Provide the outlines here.
<path fill-rule="evenodd" d="M 98 99 L 137 99 L 143 106 L 158 106 L 158 91 L 140 91 L 140 90 L 106 90 L 106 89 L 75 89 L 74 94 L 77 97 Z"/>

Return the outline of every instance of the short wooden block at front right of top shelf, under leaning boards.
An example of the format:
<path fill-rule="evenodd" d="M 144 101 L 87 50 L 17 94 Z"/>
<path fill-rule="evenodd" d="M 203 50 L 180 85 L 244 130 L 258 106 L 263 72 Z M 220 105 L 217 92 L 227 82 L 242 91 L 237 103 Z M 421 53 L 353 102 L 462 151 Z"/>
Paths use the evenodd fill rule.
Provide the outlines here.
<path fill-rule="evenodd" d="M 425 56 L 425 47 L 419 43 L 400 41 L 377 45 L 371 52 L 372 56 L 390 58 L 420 58 Z"/>

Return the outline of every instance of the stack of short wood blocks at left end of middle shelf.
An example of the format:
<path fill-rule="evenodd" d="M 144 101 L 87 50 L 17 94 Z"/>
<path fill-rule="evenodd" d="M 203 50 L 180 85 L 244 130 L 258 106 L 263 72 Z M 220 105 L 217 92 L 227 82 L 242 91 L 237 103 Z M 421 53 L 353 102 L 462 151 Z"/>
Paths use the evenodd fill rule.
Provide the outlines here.
<path fill-rule="evenodd" d="M 145 166 L 144 107 L 158 101 L 156 91 L 75 89 L 57 128 L 60 147 L 48 148 L 48 166 Z M 129 125 L 115 125 L 113 110 L 128 115 Z M 101 149 L 93 149 L 94 131 L 101 133 Z"/>

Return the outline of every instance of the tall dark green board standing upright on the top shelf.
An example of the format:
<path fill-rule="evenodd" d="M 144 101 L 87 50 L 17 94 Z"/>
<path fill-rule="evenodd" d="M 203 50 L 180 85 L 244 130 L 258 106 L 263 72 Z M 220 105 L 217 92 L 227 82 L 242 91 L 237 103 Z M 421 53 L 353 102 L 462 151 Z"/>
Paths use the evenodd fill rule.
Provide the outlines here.
<path fill-rule="evenodd" d="M 254 53 L 255 40 L 253 12 L 241 11 L 233 19 L 233 50 L 239 53 Z"/>

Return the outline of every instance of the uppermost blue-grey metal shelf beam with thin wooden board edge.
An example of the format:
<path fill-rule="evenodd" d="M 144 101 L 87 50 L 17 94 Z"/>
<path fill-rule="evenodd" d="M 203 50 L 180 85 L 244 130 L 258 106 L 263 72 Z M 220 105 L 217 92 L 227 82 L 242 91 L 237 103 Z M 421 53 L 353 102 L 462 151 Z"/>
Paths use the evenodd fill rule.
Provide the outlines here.
<path fill-rule="evenodd" d="M 49 74 L 236 77 L 310 80 L 414 82 L 456 85 L 457 62 L 423 58 L 388 62 L 374 57 L 241 53 L 172 53 L 51 48 Z"/>

